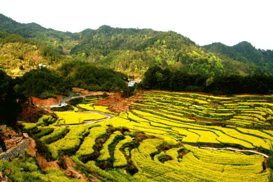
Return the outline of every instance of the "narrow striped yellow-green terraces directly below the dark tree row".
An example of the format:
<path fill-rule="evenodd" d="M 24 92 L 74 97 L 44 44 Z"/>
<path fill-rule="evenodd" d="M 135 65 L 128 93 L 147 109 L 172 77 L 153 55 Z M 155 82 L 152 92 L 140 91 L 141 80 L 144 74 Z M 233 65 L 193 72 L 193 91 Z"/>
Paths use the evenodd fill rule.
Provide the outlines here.
<path fill-rule="evenodd" d="M 221 122 L 240 127 L 271 128 L 273 122 L 272 97 L 236 96 L 213 97 L 176 92 L 148 92 L 144 103 L 132 104 L 168 119 L 185 122 Z M 131 107 L 131 108 L 132 108 Z M 188 120 L 188 121 L 187 121 Z"/>

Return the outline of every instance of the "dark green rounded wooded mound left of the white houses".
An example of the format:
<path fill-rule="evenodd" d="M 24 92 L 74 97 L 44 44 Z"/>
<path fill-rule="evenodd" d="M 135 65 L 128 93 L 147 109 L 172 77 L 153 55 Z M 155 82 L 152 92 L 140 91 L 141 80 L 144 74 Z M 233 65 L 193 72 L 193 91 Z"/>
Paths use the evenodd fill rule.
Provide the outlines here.
<path fill-rule="evenodd" d="M 72 87 L 89 91 L 117 92 L 127 89 L 128 76 L 111 68 L 95 66 L 82 61 L 64 61 L 57 69 L 37 68 L 16 77 L 17 93 L 26 97 L 47 99 L 58 94 L 68 96 Z"/>

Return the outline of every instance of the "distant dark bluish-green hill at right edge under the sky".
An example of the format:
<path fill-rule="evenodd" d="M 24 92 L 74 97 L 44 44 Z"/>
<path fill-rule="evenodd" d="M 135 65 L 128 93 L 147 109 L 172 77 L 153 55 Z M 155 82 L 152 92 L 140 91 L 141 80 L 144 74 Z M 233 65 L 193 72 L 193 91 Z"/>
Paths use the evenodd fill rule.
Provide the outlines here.
<path fill-rule="evenodd" d="M 243 63 L 259 66 L 262 72 L 272 74 L 273 50 L 256 49 L 251 43 L 243 41 L 234 46 L 226 46 L 222 43 L 212 43 L 203 46 L 207 51 L 214 53 L 219 58 L 232 59 Z M 255 70 L 251 71 L 254 73 Z"/>

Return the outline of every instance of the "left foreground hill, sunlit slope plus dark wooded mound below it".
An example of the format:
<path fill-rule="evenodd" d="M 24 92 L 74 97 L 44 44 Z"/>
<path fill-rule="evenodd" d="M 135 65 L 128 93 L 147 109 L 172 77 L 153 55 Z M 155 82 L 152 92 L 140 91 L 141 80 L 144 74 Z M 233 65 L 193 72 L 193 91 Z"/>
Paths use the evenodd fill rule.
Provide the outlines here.
<path fill-rule="evenodd" d="M 51 67 L 39 68 L 39 63 Z M 71 86 L 109 92 L 127 88 L 123 73 L 66 57 L 37 40 L 0 32 L 0 69 L 10 74 L 18 67 L 29 71 L 16 78 L 16 92 L 26 97 L 68 96 Z"/>

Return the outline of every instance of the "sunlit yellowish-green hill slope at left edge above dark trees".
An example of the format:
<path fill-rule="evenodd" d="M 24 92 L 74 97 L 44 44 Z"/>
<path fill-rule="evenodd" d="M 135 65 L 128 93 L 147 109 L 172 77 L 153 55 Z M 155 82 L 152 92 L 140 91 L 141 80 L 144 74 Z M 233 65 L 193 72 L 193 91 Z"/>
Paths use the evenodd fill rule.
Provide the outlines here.
<path fill-rule="evenodd" d="M 0 68 L 33 68 L 39 63 L 53 65 L 66 59 L 45 44 L 22 36 L 0 32 Z"/>

